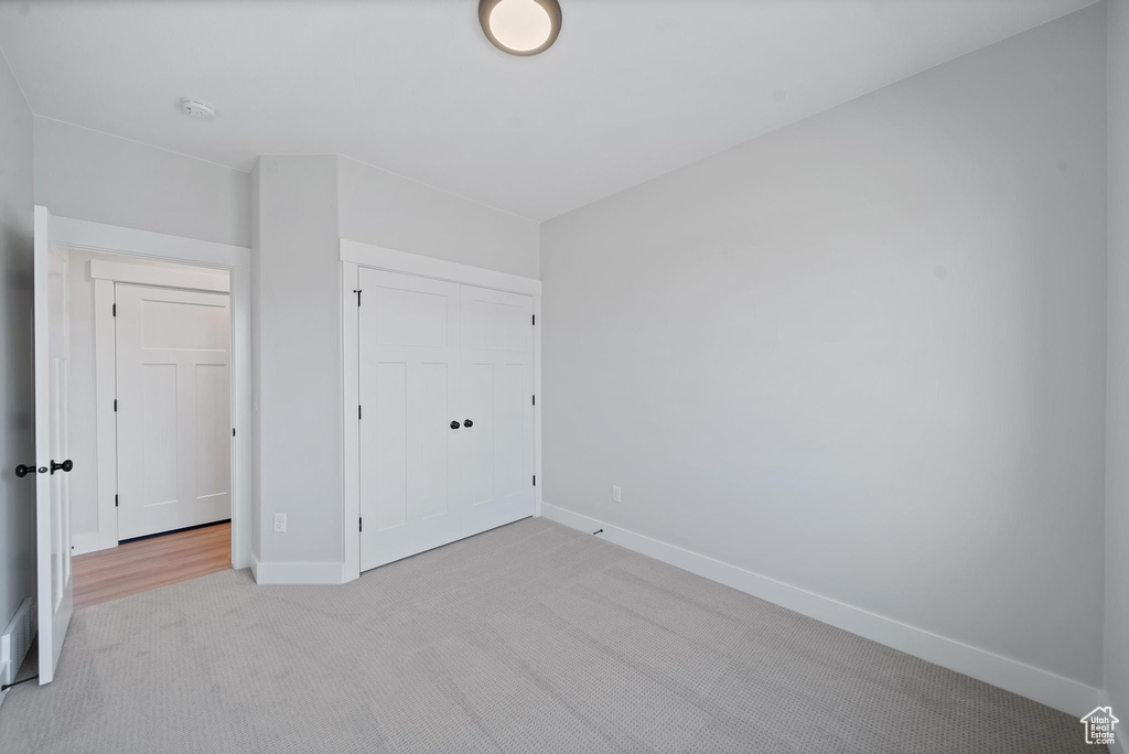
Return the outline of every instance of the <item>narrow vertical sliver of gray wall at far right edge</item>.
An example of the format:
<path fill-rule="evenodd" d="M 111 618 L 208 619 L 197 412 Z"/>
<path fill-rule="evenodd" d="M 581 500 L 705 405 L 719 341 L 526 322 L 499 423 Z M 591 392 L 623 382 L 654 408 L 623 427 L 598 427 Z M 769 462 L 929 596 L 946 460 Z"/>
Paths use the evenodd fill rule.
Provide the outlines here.
<path fill-rule="evenodd" d="M 1105 690 L 1129 710 L 1129 0 L 1108 3 L 1109 380 L 1105 457 Z M 1129 735 L 1120 734 L 1121 747 Z"/>

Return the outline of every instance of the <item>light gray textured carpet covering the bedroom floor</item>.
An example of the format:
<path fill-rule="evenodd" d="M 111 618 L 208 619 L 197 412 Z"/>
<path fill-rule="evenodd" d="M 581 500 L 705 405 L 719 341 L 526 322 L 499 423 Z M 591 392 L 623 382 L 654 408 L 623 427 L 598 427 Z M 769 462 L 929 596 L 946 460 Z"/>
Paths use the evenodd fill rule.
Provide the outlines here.
<path fill-rule="evenodd" d="M 75 614 L 0 752 L 1087 752 L 1070 716 L 544 519 Z"/>

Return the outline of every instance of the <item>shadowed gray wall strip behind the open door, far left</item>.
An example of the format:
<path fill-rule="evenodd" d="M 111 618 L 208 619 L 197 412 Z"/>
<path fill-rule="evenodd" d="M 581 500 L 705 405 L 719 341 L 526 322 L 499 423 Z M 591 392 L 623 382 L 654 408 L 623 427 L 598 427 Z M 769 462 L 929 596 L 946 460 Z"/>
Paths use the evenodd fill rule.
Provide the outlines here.
<path fill-rule="evenodd" d="M 0 55 L 0 624 L 35 593 L 35 462 L 32 383 L 32 111 Z"/>

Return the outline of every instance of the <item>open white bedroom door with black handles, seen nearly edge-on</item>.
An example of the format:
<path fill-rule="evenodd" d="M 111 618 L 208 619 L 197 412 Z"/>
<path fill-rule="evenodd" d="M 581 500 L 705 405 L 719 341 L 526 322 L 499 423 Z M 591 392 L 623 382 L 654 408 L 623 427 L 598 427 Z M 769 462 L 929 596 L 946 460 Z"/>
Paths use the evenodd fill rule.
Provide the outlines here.
<path fill-rule="evenodd" d="M 35 510 L 40 684 L 55 675 L 73 607 L 70 559 L 72 467 L 67 447 L 70 339 L 67 253 L 51 244 L 50 213 L 35 208 Z"/>

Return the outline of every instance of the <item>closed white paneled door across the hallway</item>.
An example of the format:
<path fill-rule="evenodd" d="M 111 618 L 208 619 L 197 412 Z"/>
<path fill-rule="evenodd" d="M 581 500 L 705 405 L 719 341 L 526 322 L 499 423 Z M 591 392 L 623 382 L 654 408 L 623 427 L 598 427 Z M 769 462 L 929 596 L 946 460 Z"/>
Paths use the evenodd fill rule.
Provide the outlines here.
<path fill-rule="evenodd" d="M 231 517 L 226 293 L 115 283 L 117 538 Z"/>

